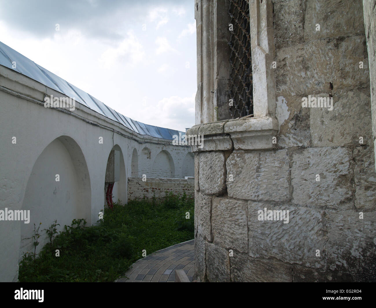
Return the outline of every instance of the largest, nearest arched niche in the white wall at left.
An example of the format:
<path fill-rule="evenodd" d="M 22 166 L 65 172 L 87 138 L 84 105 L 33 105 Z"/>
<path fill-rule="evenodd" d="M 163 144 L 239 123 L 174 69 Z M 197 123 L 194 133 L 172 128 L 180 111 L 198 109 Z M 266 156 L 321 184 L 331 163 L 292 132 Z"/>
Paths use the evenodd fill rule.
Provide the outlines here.
<path fill-rule="evenodd" d="M 91 224 L 89 171 L 74 139 L 60 136 L 41 152 L 27 181 L 22 209 L 30 210 L 30 222 L 21 222 L 20 258 L 23 252 L 34 252 L 34 223 L 36 227 L 41 223 L 37 252 L 48 241 L 45 229 L 55 219 L 59 231 L 77 218 Z"/>

